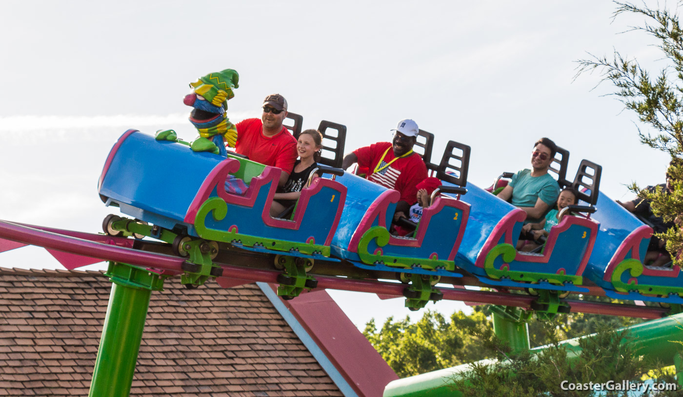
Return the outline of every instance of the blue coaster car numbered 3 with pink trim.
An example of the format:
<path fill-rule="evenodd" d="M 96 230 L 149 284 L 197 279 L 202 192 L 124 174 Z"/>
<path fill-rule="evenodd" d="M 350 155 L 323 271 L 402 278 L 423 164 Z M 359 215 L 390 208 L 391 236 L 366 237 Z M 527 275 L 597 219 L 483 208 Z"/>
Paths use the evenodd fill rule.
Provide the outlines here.
<path fill-rule="evenodd" d="M 587 168 L 594 171 L 592 176 L 587 176 Z M 589 186 L 596 191 L 599 178 L 600 166 L 583 161 L 573 183 L 560 178 L 559 184 Z M 585 193 L 580 196 L 589 204 L 596 200 Z M 531 283 L 536 289 L 587 292 L 578 286 L 583 284 L 582 274 L 598 234 L 598 223 L 589 215 L 563 217 L 550 229 L 542 251 L 535 254 L 516 249 L 526 218 L 524 210 L 473 186 L 464 200 L 473 210 L 456 265 L 486 284 L 529 287 Z M 569 208 L 573 213 L 595 210 L 589 206 Z"/>

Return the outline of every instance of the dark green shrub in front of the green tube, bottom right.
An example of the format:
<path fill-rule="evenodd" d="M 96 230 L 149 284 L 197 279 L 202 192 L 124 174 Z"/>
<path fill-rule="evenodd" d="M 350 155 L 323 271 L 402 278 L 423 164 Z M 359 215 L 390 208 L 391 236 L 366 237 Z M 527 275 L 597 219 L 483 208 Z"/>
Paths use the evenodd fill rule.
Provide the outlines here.
<path fill-rule="evenodd" d="M 546 333 L 553 335 L 553 325 Z M 626 338 L 627 342 L 622 342 Z M 475 362 L 468 372 L 454 377 L 451 387 L 462 396 L 596 396 L 593 390 L 565 390 L 559 380 L 570 383 L 607 383 L 615 379 L 640 381 L 648 368 L 658 368 L 639 357 L 628 335 L 602 328 L 594 338 L 579 341 L 582 353 L 570 359 L 565 346 L 553 341 L 552 346 L 532 355 L 529 351 L 513 354 L 494 336 L 482 344 L 498 360 Z M 670 372 L 654 371 L 658 382 L 675 383 Z M 566 385 L 565 385 L 566 386 Z M 676 396 L 678 392 L 661 392 L 657 396 Z M 626 396 L 626 392 L 609 392 L 601 396 Z"/>

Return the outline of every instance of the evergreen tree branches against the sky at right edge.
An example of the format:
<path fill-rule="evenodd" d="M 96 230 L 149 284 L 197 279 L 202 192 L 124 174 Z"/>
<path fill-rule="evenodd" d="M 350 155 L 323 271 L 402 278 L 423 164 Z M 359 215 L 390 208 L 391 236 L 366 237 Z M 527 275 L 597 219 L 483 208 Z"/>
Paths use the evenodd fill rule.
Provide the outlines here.
<path fill-rule="evenodd" d="M 644 3 L 642 7 L 615 3 L 615 18 L 625 13 L 645 16 L 647 22 L 631 30 L 647 33 L 656 40 L 665 66 L 652 73 L 642 68 L 637 59 L 629 59 L 614 51 L 610 57 L 593 56 L 580 60 L 577 76 L 598 70 L 602 81 L 609 81 L 617 88 L 614 95 L 626 109 L 635 111 L 641 122 L 656 131 L 644 132 L 638 127 L 641 142 L 671 156 L 669 174 L 674 185 L 671 195 L 640 191 L 637 184 L 633 184 L 631 189 L 652 200 L 652 210 L 656 215 L 665 221 L 677 221 L 678 225 L 658 236 L 666 239 L 667 250 L 672 254 L 674 263 L 680 265 L 683 258 L 679 258 L 678 253 L 683 250 L 683 234 L 680 228 L 682 219 L 677 218 L 683 214 L 683 31 L 678 15 L 666 8 L 654 10 Z"/>

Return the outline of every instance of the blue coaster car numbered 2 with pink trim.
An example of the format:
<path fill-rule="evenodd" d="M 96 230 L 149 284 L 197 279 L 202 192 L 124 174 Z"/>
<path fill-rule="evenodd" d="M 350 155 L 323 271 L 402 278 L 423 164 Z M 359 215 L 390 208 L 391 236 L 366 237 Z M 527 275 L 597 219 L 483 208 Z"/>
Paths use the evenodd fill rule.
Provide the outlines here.
<path fill-rule="evenodd" d="M 454 148 L 462 150 L 462 145 L 449 142 L 445 158 L 454 156 Z M 469 147 L 465 148 L 467 151 L 463 157 L 469 154 Z M 461 160 L 463 164 L 467 161 Z M 436 165 L 433 167 L 438 168 Z M 437 176 L 445 177 L 445 174 L 437 170 Z M 452 191 L 463 194 L 466 193 L 465 189 L 441 187 L 435 191 L 434 200 L 424 208 L 414 236 L 399 237 L 389 234 L 396 203 L 400 199 L 398 191 L 349 173 L 337 178 L 337 181 L 347 187 L 348 194 L 344 217 L 332 241 L 335 256 L 363 269 L 461 276 L 454 272 L 454 258 L 469 217 L 469 204 L 456 197 L 437 193 Z"/>

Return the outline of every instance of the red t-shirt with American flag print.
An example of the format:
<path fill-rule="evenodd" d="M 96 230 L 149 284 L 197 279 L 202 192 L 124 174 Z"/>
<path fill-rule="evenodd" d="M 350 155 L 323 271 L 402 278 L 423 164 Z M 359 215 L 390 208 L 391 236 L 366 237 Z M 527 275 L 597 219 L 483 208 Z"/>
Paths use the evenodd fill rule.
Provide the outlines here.
<path fill-rule="evenodd" d="M 358 157 L 358 166 L 369 168 L 365 178 L 383 187 L 398 190 L 401 193 L 400 200 L 415 204 L 417 202 L 416 185 L 427 178 L 427 166 L 419 154 L 413 152 L 410 156 L 397 159 L 389 167 L 374 172 L 378 164 L 382 162 L 388 164 L 395 159 L 396 156 L 393 155 L 391 146 L 389 142 L 379 142 L 354 151 Z M 387 148 L 389 151 L 382 159 L 382 154 L 387 151 Z M 383 164 L 380 164 L 380 168 L 382 166 Z"/>

